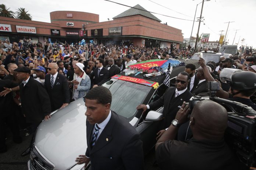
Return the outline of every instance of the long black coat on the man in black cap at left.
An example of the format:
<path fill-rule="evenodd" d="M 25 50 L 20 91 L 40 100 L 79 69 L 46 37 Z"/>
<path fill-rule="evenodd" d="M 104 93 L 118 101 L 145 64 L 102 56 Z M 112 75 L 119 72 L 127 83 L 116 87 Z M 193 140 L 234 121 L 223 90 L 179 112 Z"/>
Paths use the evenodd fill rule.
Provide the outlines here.
<path fill-rule="evenodd" d="M 26 122 L 39 123 L 51 112 L 49 96 L 43 85 L 33 78 L 19 85 L 21 111 L 26 116 Z"/>

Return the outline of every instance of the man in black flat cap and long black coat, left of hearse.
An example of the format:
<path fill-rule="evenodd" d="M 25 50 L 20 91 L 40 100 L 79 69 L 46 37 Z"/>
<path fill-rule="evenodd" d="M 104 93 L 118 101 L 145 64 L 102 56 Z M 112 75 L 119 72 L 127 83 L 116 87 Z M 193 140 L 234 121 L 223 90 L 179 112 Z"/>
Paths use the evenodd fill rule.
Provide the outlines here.
<path fill-rule="evenodd" d="M 17 71 L 17 78 L 23 80 L 19 85 L 19 93 L 21 97 L 21 111 L 26 117 L 26 122 L 31 123 L 30 133 L 35 134 L 36 128 L 43 119 L 50 118 L 50 99 L 43 88 L 43 85 L 30 77 L 31 71 L 28 67 L 19 67 Z M 28 155 L 31 151 L 33 138 L 29 147 L 21 154 L 21 156 Z"/>

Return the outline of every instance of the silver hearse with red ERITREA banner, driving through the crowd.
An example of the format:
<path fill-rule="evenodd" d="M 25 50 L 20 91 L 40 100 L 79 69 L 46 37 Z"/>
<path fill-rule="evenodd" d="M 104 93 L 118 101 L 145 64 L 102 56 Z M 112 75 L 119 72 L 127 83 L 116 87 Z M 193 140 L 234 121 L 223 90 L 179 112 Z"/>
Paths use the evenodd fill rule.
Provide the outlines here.
<path fill-rule="evenodd" d="M 189 60 L 198 67 L 198 60 Z M 172 79 L 185 70 L 185 66 L 173 68 Z M 124 76 L 124 73 L 120 75 Z M 164 75 L 143 78 L 143 74 L 129 77 L 158 82 L 158 88 L 137 84 L 125 80 L 111 78 L 103 86 L 112 94 L 111 110 L 121 115 L 141 134 L 144 154 L 150 151 L 156 143 L 156 133 L 163 118 L 163 107 L 142 114 L 136 110 L 139 104 L 149 104 L 159 99 L 167 89 L 162 82 Z M 173 80 L 170 82 L 173 82 Z M 42 121 L 35 134 L 29 170 L 80 170 L 83 165 L 77 165 L 75 158 L 85 153 L 86 143 L 86 107 L 82 98 L 73 101 L 67 107 L 51 113 L 51 118 Z"/>

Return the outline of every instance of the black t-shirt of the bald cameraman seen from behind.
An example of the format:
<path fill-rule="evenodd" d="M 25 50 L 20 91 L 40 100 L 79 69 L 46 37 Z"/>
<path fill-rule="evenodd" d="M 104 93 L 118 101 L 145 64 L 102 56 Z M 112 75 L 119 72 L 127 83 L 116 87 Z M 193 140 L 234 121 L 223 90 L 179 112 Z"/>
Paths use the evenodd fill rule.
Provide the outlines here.
<path fill-rule="evenodd" d="M 234 170 L 241 166 L 224 139 L 168 140 L 158 146 L 156 160 L 166 170 Z"/>

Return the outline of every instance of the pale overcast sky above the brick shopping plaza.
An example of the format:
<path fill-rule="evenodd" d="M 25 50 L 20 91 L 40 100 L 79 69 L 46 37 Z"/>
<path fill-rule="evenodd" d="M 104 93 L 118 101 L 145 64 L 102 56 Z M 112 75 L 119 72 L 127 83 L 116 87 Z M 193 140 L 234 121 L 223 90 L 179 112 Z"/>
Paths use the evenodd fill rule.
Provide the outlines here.
<path fill-rule="evenodd" d="M 196 5 L 202 0 L 113 0 L 115 2 L 135 6 L 139 3 L 147 11 L 156 12 L 162 15 L 153 14 L 162 22 L 169 26 L 178 28 L 184 33 L 184 38 L 189 38 L 192 30 L 192 21 L 185 21 L 181 19 L 170 18 L 163 15 L 173 16 L 176 18 L 193 20 L 195 16 Z M 42 0 L 42 1 L 10 1 L 2 0 L 7 8 L 16 11 L 19 7 L 26 8 L 34 21 L 50 22 L 50 12 L 52 11 L 83 11 L 94 14 L 99 14 L 100 22 L 107 21 L 107 18 L 112 18 L 126 10 L 129 7 L 111 3 L 104 0 Z M 158 4 L 160 5 L 158 5 Z M 163 5 L 163 6 L 161 6 Z M 170 9 L 167 9 L 170 8 Z M 196 11 L 196 18 L 200 17 L 202 3 L 198 5 Z M 201 22 L 199 36 L 201 33 L 210 33 L 209 41 L 216 41 L 220 37 L 220 30 L 226 33 L 228 21 L 235 21 L 230 23 L 227 32 L 227 41 L 232 45 L 235 37 L 235 43 L 241 45 L 241 40 L 244 38 L 243 45 L 253 46 L 256 48 L 256 0 L 210 0 L 205 1 L 203 6 L 202 16 L 205 18 L 205 25 Z M 182 13 L 182 14 L 179 14 Z M 196 19 L 195 19 L 196 20 Z M 198 30 L 198 22 L 195 22 L 192 36 L 196 37 Z M 237 34 L 235 36 L 235 30 Z"/>

